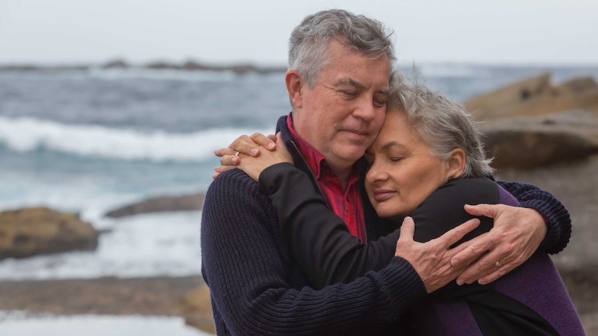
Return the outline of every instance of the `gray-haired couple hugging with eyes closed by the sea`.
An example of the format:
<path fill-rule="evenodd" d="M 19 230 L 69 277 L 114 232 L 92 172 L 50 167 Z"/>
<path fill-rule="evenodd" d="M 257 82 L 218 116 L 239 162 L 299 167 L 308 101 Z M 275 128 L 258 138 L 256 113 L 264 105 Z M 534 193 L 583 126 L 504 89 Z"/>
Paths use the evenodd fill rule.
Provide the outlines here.
<path fill-rule="evenodd" d="M 468 112 L 406 84 L 388 35 L 306 17 L 277 138 L 217 151 L 201 225 L 217 333 L 583 335 L 547 256 L 567 211 L 495 182 Z"/>

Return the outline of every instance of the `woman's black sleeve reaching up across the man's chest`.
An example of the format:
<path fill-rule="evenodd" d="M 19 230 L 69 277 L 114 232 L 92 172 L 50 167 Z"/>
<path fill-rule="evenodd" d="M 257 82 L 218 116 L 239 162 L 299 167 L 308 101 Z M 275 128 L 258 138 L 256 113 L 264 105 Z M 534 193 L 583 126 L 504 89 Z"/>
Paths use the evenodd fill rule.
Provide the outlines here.
<path fill-rule="evenodd" d="M 290 163 L 266 168 L 259 175 L 259 190 L 272 200 L 287 246 L 314 288 L 378 271 L 395 254 L 399 230 L 362 244 L 328 209 L 309 176 Z"/>

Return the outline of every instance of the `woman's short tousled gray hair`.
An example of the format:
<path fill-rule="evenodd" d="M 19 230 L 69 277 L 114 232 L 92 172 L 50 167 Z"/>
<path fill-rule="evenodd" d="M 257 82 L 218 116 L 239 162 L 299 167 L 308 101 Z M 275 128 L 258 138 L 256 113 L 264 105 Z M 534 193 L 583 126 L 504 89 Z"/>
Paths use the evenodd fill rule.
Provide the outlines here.
<path fill-rule="evenodd" d="M 448 159 L 455 148 L 464 150 L 461 177 L 484 177 L 494 172 L 477 123 L 463 105 L 422 85 L 409 85 L 399 73 L 393 73 L 386 109 L 404 109 L 409 125 L 432 148 L 435 157 Z"/>

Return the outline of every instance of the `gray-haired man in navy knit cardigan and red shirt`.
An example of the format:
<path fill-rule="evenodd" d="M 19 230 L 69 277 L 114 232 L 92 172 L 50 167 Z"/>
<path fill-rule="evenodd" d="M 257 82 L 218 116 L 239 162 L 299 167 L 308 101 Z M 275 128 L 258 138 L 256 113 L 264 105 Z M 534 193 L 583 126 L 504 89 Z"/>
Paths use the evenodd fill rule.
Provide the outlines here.
<path fill-rule="evenodd" d="M 314 188 L 364 242 L 395 229 L 377 225 L 370 204 L 361 200 L 355 164 L 384 123 L 393 61 L 382 25 L 342 10 L 310 15 L 291 34 L 285 81 L 293 110 L 277 129 L 296 166 L 313 177 Z M 518 195 L 517 184 L 505 186 L 547 218 L 545 248 L 562 249 L 570 222 L 561 204 L 542 191 Z M 402 313 L 428 292 L 459 274 L 459 283 L 492 281 L 529 258 L 546 236 L 546 224 L 534 210 L 477 211 L 496 216 L 495 232 L 486 240 L 449 249 L 475 227 L 472 222 L 423 244 L 402 237 L 400 256 L 384 269 L 316 291 L 292 260 L 268 197 L 240 170 L 222 173 L 207 192 L 201 228 L 203 276 L 216 330 L 222 335 L 406 331 Z M 513 239 L 502 242 L 507 234 Z"/>

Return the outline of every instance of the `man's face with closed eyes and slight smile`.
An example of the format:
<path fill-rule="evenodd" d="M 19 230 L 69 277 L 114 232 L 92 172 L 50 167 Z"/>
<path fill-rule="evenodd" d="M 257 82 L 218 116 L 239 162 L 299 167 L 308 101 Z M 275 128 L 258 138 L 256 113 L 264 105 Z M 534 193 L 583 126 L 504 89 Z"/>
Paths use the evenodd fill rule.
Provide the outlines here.
<path fill-rule="evenodd" d="M 384 123 L 390 65 L 386 55 L 370 58 L 336 39 L 328 44 L 328 57 L 316 85 L 302 85 L 293 125 L 332 168 L 346 169 L 363 156 Z"/>

